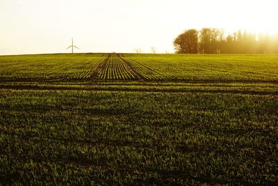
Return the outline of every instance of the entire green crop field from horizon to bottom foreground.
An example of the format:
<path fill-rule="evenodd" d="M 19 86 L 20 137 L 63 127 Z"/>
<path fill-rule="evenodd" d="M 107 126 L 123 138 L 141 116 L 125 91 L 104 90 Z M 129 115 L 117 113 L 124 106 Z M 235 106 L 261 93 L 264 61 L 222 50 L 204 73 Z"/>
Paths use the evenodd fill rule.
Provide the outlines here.
<path fill-rule="evenodd" d="M 0 56 L 0 185 L 277 185 L 278 55 Z"/>

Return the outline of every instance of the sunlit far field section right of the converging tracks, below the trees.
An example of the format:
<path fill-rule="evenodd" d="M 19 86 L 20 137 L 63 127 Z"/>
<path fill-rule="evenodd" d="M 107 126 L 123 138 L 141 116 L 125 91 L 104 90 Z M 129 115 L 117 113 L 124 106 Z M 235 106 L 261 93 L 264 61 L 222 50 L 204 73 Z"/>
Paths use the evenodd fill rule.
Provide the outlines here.
<path fill-rule="evenodd" d="M 125 54 L 124 60 L 136 61 L 170 80 L 258 82 L 278 79 L 277 54 Z"/>

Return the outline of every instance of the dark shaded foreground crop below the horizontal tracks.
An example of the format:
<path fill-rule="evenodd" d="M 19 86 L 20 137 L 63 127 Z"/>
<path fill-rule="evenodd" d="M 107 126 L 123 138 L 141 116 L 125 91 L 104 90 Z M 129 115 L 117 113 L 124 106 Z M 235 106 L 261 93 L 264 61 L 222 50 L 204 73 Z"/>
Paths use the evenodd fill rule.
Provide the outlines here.
<path fill-rule="evenodd" d="M 278 179 L 277 95 L 0 94 L 3 185 L 275 185 Z"/>

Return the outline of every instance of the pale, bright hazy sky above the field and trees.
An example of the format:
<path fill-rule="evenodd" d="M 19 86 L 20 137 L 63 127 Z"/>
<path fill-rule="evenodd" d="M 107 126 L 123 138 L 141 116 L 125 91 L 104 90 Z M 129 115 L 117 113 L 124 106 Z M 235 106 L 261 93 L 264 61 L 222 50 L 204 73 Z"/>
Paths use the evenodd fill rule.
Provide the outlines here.
<path fill-rule="evenodd" d="M 0 0 L 0 55 L 174 52 L 186 29 L 278 33 L 277 0 Z"/>

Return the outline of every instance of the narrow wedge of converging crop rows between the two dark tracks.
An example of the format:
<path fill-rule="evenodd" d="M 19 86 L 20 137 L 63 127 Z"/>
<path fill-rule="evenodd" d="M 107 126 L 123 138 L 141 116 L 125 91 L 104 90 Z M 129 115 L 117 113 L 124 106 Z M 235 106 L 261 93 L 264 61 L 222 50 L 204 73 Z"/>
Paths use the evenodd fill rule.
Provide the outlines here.
<path fill-rule="evenodd" d="M 135 77 L 126 69 L 123 61 L 114 54 L 106 61 L 106 65 L 99 73 L 99 79 L 135 79 Z"/>

